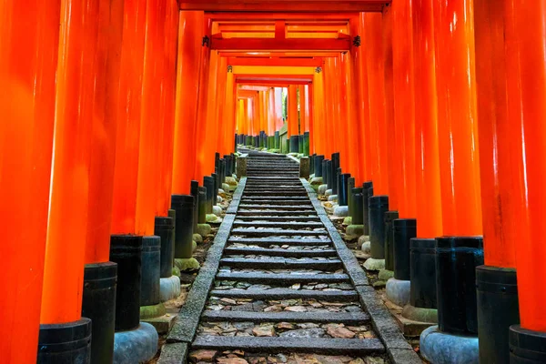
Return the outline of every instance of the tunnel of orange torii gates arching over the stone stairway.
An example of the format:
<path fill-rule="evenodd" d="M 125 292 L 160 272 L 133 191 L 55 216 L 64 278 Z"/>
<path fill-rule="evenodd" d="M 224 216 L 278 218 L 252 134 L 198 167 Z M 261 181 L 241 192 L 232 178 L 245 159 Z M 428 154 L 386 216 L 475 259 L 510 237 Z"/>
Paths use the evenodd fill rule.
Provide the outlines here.
<path fill-rule="evenodd" d="M 138 327 L 132 259 L 176 227 L 192 264 L 237 143 L 334 187 L 339 160 L 372 186 L 372 258 L 378 211 L 435 255 L 424 308 L 451 349 L 545 362 L 545 37 L 544 0 L 1 1 L 1 361 L 60 362 L 86 318 L 111 358 Z"/>

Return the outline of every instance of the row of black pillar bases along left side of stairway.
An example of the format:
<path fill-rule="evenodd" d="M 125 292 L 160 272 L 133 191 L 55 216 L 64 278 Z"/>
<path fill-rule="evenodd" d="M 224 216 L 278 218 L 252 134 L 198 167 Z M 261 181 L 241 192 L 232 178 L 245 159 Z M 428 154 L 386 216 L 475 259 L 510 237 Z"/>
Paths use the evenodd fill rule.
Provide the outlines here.
<path fill-rule="evenodd" d="M 111 363 L 115 332 L 140 326 L 140 307 L 160 303 L 159 280 L 173 275 L 175 258 L 191 258 L 197 223 L 212 213 L 218 188 L 235 171 L 233 154 L 216 154 L 215 172 L 191 195 L 173 195 L 168 217 L 156 217 L 154 236 L 112 235 L 110 261 L 87 264 L 82 319 L 40 330 L 39 363 Z"/>

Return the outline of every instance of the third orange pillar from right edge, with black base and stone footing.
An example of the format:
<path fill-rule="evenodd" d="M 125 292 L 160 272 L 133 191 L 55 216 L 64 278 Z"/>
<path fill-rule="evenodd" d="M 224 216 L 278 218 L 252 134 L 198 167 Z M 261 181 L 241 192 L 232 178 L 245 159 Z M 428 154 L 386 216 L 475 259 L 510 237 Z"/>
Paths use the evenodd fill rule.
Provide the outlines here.
<path fill-rule="evenodd" d="M 483 248 L 473 2 L 448 0 L 433 6 L 444 236 L 436 238 L 435 253 L 439 332 L 425 331 L 420 348 L 432 362 L 435 355 L 449 361 L 462 353 L 477 361 L 478 340 L 468 341 L 466 348 L 438 342 L 445 336 L 471 340 L 478 334 L 475 268 L 483 264 Z M 459 267 L 462 260 L 467 264 Z"/>

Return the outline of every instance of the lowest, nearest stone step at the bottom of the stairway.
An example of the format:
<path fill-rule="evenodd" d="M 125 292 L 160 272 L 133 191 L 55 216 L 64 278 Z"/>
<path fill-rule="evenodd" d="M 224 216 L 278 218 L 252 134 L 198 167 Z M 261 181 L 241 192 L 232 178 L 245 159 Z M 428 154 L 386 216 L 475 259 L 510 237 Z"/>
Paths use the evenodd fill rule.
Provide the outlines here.
<path fill-rule="evenodd" d="M 379 339 L 253 338 L 197 336 L 192 349 L 233 350 L 277 354 L 282 352 L 367 356 L 383 353 Z"/>

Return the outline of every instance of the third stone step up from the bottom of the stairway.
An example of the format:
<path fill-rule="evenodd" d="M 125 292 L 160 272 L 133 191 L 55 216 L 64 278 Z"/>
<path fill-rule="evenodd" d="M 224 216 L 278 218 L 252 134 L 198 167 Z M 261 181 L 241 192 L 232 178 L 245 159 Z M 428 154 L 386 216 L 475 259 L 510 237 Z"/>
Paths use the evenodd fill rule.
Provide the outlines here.
<path fill-rule="evenodd" d="M 317 299 L 325 302 L 358 301 L 359 294 L 355 290 L 297 290 L 290 288 L 271 289 L 226 289 L 210 291 L 210 296 L 217 298 L 250 298 L 263 300 L 278 299 Z"/>

